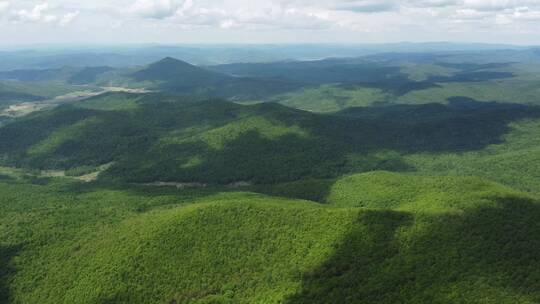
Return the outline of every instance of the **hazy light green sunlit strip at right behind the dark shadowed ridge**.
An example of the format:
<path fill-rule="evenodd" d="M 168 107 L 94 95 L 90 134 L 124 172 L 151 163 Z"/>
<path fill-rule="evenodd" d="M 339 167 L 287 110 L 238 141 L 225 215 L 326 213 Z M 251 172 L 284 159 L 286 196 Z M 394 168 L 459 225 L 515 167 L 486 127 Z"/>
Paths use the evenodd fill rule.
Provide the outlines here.
<path fill-rule="evenodd" d="M 444 75 L 444 74 L 443 74 Z M 540 79 L 513 78 L 484 82 L 438 83 L 437 86 L 393 94 L 378 88 L 322 85 L 272 97 L 269 100 L 313 112 L 337 112 L 376 104 L 446 104 L 463 96 L 478 101 L 539 104 Z"/>

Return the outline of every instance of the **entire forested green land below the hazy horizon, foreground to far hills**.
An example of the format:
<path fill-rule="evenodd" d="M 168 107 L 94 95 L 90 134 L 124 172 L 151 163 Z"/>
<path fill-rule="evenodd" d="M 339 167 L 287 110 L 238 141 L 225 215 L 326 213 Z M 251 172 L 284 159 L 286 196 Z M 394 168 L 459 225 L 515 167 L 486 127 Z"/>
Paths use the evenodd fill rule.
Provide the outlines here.
<path fill-rule="evenodd" d="M 0 303 L 540 303 L 508 54 L 0 71 Z"/>

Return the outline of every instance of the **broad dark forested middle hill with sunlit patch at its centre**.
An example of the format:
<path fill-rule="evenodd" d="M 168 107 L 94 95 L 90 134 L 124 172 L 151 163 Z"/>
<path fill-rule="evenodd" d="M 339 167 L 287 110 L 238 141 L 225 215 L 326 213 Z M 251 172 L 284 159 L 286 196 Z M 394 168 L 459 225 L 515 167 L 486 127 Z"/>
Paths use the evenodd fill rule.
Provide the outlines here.
<path fill-rule="evenodd" d="M 524 105 L 456 100 L 314 114 L 164 94 L 109 93 L 0 128 L 4 165 L 79 170 L 129 182 L 277 183 L 377 169 L 405 156 L 481 151 L 509 125 L 540 117 Z M 532 136 L 532 135 L 531 135 Z"/>

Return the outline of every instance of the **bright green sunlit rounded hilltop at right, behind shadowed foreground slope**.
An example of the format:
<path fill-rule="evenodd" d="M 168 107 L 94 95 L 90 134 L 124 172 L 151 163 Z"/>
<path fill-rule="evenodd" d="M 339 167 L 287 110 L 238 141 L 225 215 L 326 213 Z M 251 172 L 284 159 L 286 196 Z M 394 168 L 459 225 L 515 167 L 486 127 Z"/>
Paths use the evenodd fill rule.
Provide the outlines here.
<path fill-rule="evenodd" d="M 475 177 L 428 177 L 371 172 L 338 180 L 328 203 L 341 207 L 451 213 L 477 207 L 489 196 L 512 193 Z"/>

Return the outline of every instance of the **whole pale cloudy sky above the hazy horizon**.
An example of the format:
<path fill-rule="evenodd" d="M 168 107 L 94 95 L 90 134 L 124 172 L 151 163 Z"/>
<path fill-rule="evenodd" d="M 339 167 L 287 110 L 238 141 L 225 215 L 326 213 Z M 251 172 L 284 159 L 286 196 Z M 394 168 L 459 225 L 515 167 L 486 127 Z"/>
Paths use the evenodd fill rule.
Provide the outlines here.
<path fill-rule="evenodd" d="M 0 44 L 540 45 L 540 0 L 0 0 Z"/>

